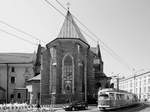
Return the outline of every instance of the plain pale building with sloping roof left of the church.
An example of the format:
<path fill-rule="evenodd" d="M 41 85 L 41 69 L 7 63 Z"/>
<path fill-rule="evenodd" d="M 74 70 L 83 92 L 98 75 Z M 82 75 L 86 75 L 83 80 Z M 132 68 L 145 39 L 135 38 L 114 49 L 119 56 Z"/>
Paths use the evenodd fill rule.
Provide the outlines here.
<path fill-rule="evenodd" d="M 0 53 L 1 103 L 26 102 L 26 81 L 33 75 L 33 54 Z"/>

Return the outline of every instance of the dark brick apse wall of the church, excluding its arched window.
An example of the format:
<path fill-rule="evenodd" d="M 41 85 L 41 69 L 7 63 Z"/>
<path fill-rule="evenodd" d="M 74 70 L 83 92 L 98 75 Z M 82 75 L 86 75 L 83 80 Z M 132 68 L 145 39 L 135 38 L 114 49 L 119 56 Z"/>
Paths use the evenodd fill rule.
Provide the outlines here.
<path fill-rule="evenodd" d="M 53 95 L 53 103 L 68 103 L 68 101 L 84 101 L 86 99 L 89 103 L 92 103 L 95 98 L 94 95 L 97 94 L 95 88 L 96 79 L 93 71 L 94 54 L 85 45 L 82 45 L 82 42 L 71 39 L 57 39 L 48 44 L 48 49 L 43 53 L 41 102 L 43 104 L 51 103 L 50 75 L 53 74 L 53 67 L 50 67 L 50 48 L 52 47 L 56 49 L 56 74 L 53 76 L 55 77 L 55 81 L 53 81 L 55 94 Z M 62 91 L 62 60 L 67 54 L 72 57 L 74 64 L 74 93 L 72 94 L 65 94 Z M 85 78 L 87 78 L 86 82 Z"/>

